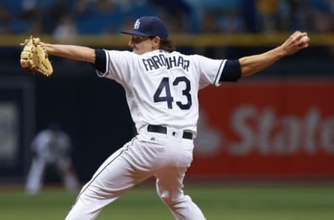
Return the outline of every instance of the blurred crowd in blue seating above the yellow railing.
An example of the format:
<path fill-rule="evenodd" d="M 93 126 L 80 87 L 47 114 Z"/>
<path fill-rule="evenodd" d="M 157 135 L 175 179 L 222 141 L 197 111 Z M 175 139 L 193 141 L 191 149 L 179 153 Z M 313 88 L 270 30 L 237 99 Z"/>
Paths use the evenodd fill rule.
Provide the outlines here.
<path fill-rule="evenodd" d="M 119 33 L 143 15 L 171 33 L 334 31 L 334 0 L 1 0 L 0 34 Z"/>

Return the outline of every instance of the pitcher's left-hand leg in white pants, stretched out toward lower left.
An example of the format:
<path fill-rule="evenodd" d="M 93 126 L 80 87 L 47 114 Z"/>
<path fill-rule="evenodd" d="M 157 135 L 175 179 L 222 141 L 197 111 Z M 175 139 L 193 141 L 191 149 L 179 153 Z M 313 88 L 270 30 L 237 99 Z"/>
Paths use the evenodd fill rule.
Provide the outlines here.
<path fill-rule="evenodd" d="M 81 189 L 66 220 L 95 219 L 106 205 L 149 177 L 148 173 L 134 175 L 134 166 L 129 162 L 132 159 L 130 150 L 125 146 L 106 159 Z"/>

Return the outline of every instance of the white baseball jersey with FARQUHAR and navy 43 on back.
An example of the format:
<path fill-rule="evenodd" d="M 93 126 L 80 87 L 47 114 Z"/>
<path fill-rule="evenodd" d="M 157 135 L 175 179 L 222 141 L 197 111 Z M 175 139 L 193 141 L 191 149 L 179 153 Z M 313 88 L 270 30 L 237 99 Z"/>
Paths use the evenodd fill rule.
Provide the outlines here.
<path fill-rule="evenodd" d="M 137 132 L 145 125 L 163 125 L 196 135 L 198 91 L 219 86 L 226 60 L 155 50 L 142 55 L 104 50 L 106 72 L 126 91 Z"/>

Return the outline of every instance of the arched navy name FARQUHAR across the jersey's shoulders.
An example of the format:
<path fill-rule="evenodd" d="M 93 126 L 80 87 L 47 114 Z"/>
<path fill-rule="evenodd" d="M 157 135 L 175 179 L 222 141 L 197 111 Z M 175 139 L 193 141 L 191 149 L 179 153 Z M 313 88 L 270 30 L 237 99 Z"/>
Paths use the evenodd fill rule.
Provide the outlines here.
<path fill-rule="evenodd" d="M 146 71 L 159 70 L 160 68 L 182 68 L 183 70 L 189 71 L 190 61 L 184 59 L 182 56 L 164 56 L 159 54 L 150 58 L 143 58 L 143 65 Z"/>

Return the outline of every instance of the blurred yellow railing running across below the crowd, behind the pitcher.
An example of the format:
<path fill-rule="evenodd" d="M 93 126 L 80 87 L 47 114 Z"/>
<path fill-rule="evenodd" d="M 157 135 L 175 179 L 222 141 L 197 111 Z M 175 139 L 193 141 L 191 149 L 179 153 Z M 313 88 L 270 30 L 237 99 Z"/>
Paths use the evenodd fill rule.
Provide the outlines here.
<path fill-rule="evenodd" d="M 170 39 L 177 47 L 259 47 L 280 45 L 287 39 L 289 33 L 243 33 L 243 34 L 172 34 Z M 126 47 L 129 37 L 116 35 L 77 36 L 57 39 L 52 36 L 38 36 L 44 42 L 86 45 L 91 47 Z M 19 43 L 29 38 L 26 35 L 0 35 L 0 47 L 19 47 Z M 310 34 L 310 45 L 334 46 L 334 33 Z"/>

